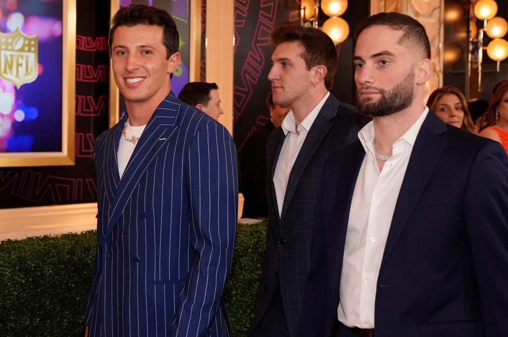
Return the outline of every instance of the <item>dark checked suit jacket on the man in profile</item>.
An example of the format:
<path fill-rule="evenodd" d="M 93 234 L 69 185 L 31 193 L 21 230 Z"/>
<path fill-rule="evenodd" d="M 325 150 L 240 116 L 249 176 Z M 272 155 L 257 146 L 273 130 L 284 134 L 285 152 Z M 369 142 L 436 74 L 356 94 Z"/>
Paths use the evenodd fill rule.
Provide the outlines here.
<path fill-rule="evenodd" d="M 285 135 L 280 127 L 270 134 L 266 147 L 269 213 L 267 247 L 250 332 L 263 318 L 279 284 L 284 319 L 288 323 L 290 335 L 296 335 L 304 305 L 302 297 L 310 267 L 314 207 L 323 164 L 332 151 L 358 139 L 358 131 L 369 120 L 370 117 L 359 114 L 355 107 L 340 103 L 333 95 L 328 97 L 293 165 L 280 217 L 273 175 Z M 274 318 L 263 319 L 276 321 Z"/>

